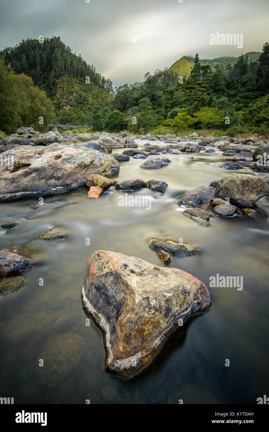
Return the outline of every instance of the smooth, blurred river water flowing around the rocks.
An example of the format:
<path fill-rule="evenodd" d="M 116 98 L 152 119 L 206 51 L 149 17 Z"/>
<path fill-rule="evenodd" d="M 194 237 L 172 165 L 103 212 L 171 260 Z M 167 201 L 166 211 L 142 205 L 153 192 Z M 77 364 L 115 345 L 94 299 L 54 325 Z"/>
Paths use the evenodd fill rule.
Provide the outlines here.
<path fill-rule="evenodd" d="M 145 143 L 137 142 L 138 147 Z M 211 227 L 199 226 L 182 215 L 176 198 L 225 175 L 253 172 L 218 168 L 225 159 L 219 150 L 193 153 L 194 160 L 183 155 L 183 164 L 178 155 L 164 156 L 172 161 L 168 167 L 144 170 L 144 159 L 130 159 L 120 162 L 113 175 L 116 180 L 165 180 L 164 194 L 131 193 L 152 196 L 151 209 L 119 206 L 124 192 L 114 187 L 97 200 L 88 200 L 86 189 L 47 197 L 36 210 L 30 208 L 36 200 L 0 204 L 0 223 L 25 220 L 8 232 L 0 229 L 0 249 L 25 248 L 38 261 L 23 273 L 27 286 L 0 297 L 1 397 L 14 397 L 14 403 L 256 403 L 268 392 L 269 200 L 256 204 L 260 220 L 212 217 Z M 59 243 L 39 238 L 54 226 L 70 238 Z M 163 265 L 147 245 L 147 238 L 156 237 L 183 238 L 199 249 L 194 257 L 172 257 L 170 267 L 202 280 L 212 305 L 188 319 L 144 371 L 126 380 L 104 371 L 101 332 L 93 321 L 85 325 L 84 270 L 98 249 Z M 243 289 L 210 288 L 210 276 L 217 273 L 243 276 Z"/>

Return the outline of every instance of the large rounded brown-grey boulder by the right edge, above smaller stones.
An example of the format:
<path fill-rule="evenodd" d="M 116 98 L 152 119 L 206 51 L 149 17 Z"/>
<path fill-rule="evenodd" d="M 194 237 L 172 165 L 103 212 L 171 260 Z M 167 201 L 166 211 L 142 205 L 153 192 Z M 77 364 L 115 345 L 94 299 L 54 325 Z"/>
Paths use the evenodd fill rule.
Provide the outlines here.
<path fill-rule="evenodd" d="M 250 207 L 269 191 L 268 184 L 256 175 L 226 175 L 216 183 L 215 190 L 219 198 L 230 199 L 230 203 L 239 207 Z"/>

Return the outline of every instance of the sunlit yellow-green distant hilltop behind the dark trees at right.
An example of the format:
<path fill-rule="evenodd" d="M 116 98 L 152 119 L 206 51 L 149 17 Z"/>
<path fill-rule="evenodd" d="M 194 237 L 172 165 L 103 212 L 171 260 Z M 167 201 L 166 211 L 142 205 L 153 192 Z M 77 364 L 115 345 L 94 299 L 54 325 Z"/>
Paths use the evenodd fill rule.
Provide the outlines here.
<path fill-rule="evenodd" d="M 259 59 L 260 57 L 260 52 L 257 51 L 251 51 L 248 52 L 247 55 L 248 56 L 248 60 L 250 61 L 256 61 Z M 210 68 L 212 70 L 214 70 L 214 67 L 216 66 L 216 64 L 219 64 L 219 66 L 227 66 L 229 63 L 231 64 L 231 66 L 234 66 L 235 63 L 238 61 L 239 57 L 228 57 L 228 56 L 223 56 L 223 57 L 216 57 L 213 59 L 202 59 L 200 60 L 201 64 L 209 64 Z M 191 69 L 194 66 L 194 57 L 192 56 L 183 56 L 181 57 L 179 60 L 177 60 L 174 64 L 172 64 L 171 67 L 169 67 L 168 71 L 169 72 L 173 72 L 176 73 L 178 76 L 183 76 L 185 78 L 188 78 L 188 76 L 191 73 Z"/>

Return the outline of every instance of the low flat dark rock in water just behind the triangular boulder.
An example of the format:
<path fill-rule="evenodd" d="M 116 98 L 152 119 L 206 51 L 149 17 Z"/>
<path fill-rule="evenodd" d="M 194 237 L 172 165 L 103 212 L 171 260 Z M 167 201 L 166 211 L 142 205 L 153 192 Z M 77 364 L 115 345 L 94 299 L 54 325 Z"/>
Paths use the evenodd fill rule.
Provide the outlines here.
<path fill-rule="evenodd" d="M 190 243 L 181 245 L 178 241 L 163 238 L 149 238 L 147 242 L 150 249 L 156 252 L 166 251 L 168 254 L 177 255 L 178 257 L 191 257 L 199 254 L 197 249 Z"/>

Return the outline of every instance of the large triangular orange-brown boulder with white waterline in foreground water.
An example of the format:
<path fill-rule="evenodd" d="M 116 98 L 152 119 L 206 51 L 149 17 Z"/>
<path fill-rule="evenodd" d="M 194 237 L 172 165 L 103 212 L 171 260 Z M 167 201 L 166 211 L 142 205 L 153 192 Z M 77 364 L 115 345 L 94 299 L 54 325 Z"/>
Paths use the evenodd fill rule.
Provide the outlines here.
<path fill-rule="evenodd" d="M 103 332 L 106 371 L 123 377 L 150 363 L 179 320 L 211 303 L 191 274 L 109 251 L 89 258 L 82 302 Z"/>

